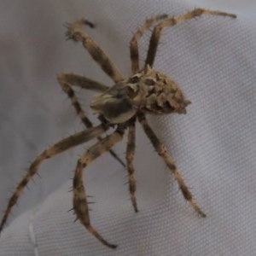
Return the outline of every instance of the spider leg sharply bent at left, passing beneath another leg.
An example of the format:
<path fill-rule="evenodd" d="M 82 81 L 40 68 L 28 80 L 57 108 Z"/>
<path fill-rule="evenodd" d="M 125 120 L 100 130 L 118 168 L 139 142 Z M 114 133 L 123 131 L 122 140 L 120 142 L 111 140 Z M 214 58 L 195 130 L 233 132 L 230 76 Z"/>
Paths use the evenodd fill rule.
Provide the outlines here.
<path fill-rule="evenodd" d="M 108 86 L 105 84 L 100 84 L 92 79 L 87 79 L 83 76 L 79 76 L 73 73 L 61 73 L 57 76 L 58 82 L 61 85 L 61 89 L 67 94 L 70 101 L 73 104 L 73 108 L 79 115 L 82 123 L 85 125 L 86 128 L 92 127 L 92 123 L 90 119 L 84 113 L 84 110 L 81 108 L 79 104 L 79 100 L 71 87 L 71 85 L 79 86 L 80 88 L 86 90 L 96 90 L 96 91 L 105 91 L 108 89 Z M 98 137 L 98 140 L 101 141 L 102 137 Z M 115 160 L 118 160 L 122 166 L 125 166 L 123 160 L 119 158 L 119 156 L 113 151 L 109 150 L 109 153 L 113 156 Z"/>

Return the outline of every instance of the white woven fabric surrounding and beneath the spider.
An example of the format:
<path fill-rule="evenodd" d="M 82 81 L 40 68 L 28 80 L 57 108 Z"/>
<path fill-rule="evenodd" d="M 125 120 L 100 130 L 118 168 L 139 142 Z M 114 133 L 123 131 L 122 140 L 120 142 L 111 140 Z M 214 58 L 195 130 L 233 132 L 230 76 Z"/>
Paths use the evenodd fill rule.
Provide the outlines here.
<path fill-rule="evenodd" d="M 80 44 L 64 40 L 62 24 L 80 17 L 95 22 L 95 30 L 88 32 L 128 76 L 129 40 L 143 20 L 161 13 L 180 15 L 195 5 L 213 9 L 195 1 L 167 0 L 0 3 L 1 210 L 29 160 L 83 129 L 56 83 L 56 73 L 79 73 L 112 84 Z M 124 168 L 109 154 L 84 171 L 87 192 L 96 201 L 91 222 L 119 245 L 115 251 L 102 246 L 79 222 L 73 224 L 73 212 L 67 212 L 72 207 L 70 178 L 79 154 L 89 147 L 85 145 L 40 167 L 41 178 L 25 189 L 3 231 L 1 256 L 255 255 L 255 13 L 227 5 L 225 10 L 238 18 L 202 17 L 166 28 L 154 63 L 192 102 L 186 115 L 150 117 L 150 123 L 207 218 L 198 218 L 183 200 L 137 125 L 140 212 L 131 207 Z M 140 42 L 142 62 L 148 38 Z M 92 93 L 79 93 L 88 109 Z M 124 159 L 125 145 L 115 148 Z"/>

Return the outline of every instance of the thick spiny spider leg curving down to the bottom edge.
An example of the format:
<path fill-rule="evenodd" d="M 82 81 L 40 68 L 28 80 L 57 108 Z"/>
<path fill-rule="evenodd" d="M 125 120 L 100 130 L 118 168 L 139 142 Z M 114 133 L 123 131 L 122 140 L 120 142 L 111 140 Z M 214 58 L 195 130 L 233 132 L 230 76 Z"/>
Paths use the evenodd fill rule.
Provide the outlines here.
<path fill-rule="evenodd" d="M 124 135 L 124 131 L 124 127 L 119 125 L 116 131 L 111 135 L 103 138 L 101 142 L 91 146 L 87 152 L 80 157 L 73 177 L 73 210 L 76 213 L 77 218 L 93 236 L 102 242 L 102 244 L 111 248 L 117 246 L 106 241 L 90 224 L 88 202 L 84 189 L 83 170 L 86 166 L 89 166 L 93 160 L 96 160 L 97 157 L 107 152 L 116 143 L 119 143 Z"/>

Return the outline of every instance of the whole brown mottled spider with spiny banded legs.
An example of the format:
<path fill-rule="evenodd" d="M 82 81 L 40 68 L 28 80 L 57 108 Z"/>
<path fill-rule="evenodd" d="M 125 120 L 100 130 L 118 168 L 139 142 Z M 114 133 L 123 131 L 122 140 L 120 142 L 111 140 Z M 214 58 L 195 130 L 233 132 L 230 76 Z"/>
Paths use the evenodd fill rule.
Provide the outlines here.
<path fill-rule="evenodd" d="M 9 217 L 12 207 L 18 201 L 21 192 L 26 187 L 26 184 L 38 172 L 38 166 L 49 158 L 60 154 L 69 148 L 76 147 L 82 143 L 86 143 L 91 139 L 97 138 L 98 142 L 91 146 L 84 154 L 82 154 L 75 167 L 73 176 L 73 211 L 79 219 L 80 223 L 99 241 L 107 247 L 115 248 L 115 244 L 106 241 L 103 236 L 90 224 L 90 214 L 88 208 L 87 196 L 83 182 L 83 170 L 89 166 L 93 160 L 96 160 L 105 152 L 110 152 L 116 160 L 119 160 L 117 154 L 112 151 L 113 146 L 119 143 L 124 137 L 125 131 L 128 130 L 128 143 L 126 148 L 126 166 L 128 171 L 129 192 L 131 195 L 131 204 L 135 212 L 138 212 L 136 200 L 136 180 L 134 176 L 133 158 L 135 153 L 135 124 L 138 122 L 143 126 L 143 131 L 146 133 L 149 141 L 153 144 L 156 152 L 165 161 L 172 175 L 175 177 L 179 188 L 182 191 L 183 197 L 189 201 L 191 207 L 195 209 L 201 217 L 206 217 L 206 214 L 197 206 L 192 194 L 183 181 L 183 177 L 177 170 L 172 157 L 167 153 L 166 147 L 160 142 L 154 131 L 148 125 L 146 119 L 147 113 L 152 114 L 167 114 L 167 113 L 186 113 L 186 107 L 189 105 L 189 100 L 183 95 L 183 91 L 179 86 L 164 73 L 160 73 L 153 69 L 154 57 L 160 41 L 161 31 L 166 26 L 174 26 L 183 23 L 186 20 L 191 20 L 201 15 L 220 15 L 236 18 L 236 15 L 227 14 L 220 11 L 212 11 L 207 9 L 194 9 L 184 15 L 168 18 L 167 15 L 157 15 L 143 23 L 137 32 L 134 33 L 130 41 L 131 54 L 131 71 L 132 75 L 125 79 L 119 72 L 113 62 L 108 58 L 96 42 L 82 30 L 82 26 L 94 27 L 94 24 L 89 20 L 77 20 L 71 24 L 67 24 L 67 39 L 72 39 L 75 42 L 81 42 L 84 48 L 87 49 L 90 56 L 102 68 L 103 72 L 113 79 L 113 86 L 96 82 L 92 79 L 79 76 L 73 73 L 60 73 L 57 76 L 58 83 L 61 89 L 67 93 L 73 103 L 73 107 L 79 115 L 79 118 L 84 123 L 87 129 L 66 137 L 55 143 L 53 146 L 45 149 L 41 154 L 38 154 L 35 160 L 29 166 L 25 177 L 17 185 L 15 192 L 9 199 L 2 222 L 0 231 Z M 143 37 L 143 34 L 148 31 L 154 22 L 159 23 L 154 26 L 149 46 L 148 54 L 144 66 L 139 67 L 138 40 Z M 77 97 L 74 94 L 72 86 L 79 86 L 86 90 L 95 90 L 100 92 L 93 97 L 90 102 L 90 108 L 98 114 L 100 125 L 93 126 L 80 107 Z M 115 130 L 112 134 L 101 137 L 110 127 Z"/>

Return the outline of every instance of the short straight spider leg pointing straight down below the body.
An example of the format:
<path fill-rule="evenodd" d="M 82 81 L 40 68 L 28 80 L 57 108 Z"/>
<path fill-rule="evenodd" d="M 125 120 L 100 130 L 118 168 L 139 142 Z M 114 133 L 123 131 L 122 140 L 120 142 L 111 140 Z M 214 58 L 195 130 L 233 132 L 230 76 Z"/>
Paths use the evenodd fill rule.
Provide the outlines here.
<path fill-rule="evenodd" d="M 136 119 L 131 119 L 128 124 L 128 142 L 126 148 L 126 165 L 128 170 L 128 177 L 129 177 L 129 192 L 131 195 L 131 203 L 134 208 L 135 212 L 138 212 L 137 208 L 137 200 L 135 197 L 136 191 L 136 180 L 134 177 L 134 167 L 132 161 L 134 159 L 134 152 L 135 152 L 135 122 Z"/>

